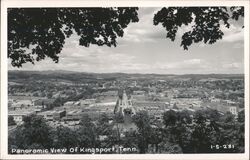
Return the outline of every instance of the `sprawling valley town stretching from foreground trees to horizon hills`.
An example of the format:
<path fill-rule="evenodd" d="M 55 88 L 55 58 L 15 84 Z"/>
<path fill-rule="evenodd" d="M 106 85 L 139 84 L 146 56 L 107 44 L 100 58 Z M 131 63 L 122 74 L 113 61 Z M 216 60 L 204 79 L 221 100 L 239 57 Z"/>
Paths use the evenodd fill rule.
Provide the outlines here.
<path fill-rule="evenodd" d="M 197 111 L 216 110 L 221 116 L 230 113 L 235 121 L 244 112 L 243 75 L 9 71 L 8 94 L 9 134 L 31 115 L 42 117 L 52 128 L 73 131 L 84 115 L 96 122 L 105 114 L 109 124 L 118 115 L 123 119 L 119 136 L 124 137 L 137 130 L 131 117 L 142 111 L 151 127 L 163 125 L 167 111 L 194 117 Z M 98 138 L 105 140 L 107 135 Z"/>

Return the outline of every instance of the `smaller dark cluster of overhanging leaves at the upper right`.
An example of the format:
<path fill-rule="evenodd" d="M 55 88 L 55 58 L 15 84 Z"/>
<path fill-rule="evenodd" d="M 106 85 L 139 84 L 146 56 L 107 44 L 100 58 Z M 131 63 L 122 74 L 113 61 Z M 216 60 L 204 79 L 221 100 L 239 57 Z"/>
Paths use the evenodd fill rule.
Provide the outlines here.
<path fill-rule="evenodd" d="M 229 28 L 229 20 L 239 17 L 244 17 L 244 7 L 164 7 L 155 14 L 154 25 L 162 24 L 167 31 L 166 38 L 174 41 L 180 27 L 194 23 L 182 35 L 181 46 L 188 50 L 193 43 L 213 44 L 222 39 L 221 25 Z"/>

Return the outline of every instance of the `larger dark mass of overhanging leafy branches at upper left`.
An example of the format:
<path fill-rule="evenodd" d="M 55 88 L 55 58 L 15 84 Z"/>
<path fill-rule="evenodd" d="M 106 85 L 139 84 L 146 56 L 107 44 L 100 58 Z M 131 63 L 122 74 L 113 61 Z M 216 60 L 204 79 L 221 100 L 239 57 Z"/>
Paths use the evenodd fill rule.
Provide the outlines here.
<path fill-rule="evenodd" d="M 116 38 L 130 22 L 137 22 L 138 8 L 10 8 L 8 57 L 15 67 L 58 54 L 76 32 L 79 45 L 116 46 Z"/>

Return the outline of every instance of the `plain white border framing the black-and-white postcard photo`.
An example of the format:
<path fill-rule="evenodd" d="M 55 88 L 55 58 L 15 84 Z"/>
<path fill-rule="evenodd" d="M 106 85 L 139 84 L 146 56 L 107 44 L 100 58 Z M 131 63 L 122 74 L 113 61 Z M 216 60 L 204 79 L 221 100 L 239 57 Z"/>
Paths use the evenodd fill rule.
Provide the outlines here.
<path fill-rule="evenodd" d="M 108 6 L 245 6 L 244 18 L 244 62 L 245 62 L 245 153 L 237 154 L 129 154 L 129 155 L 8 155 L 8 124 L 7 124 L 7 95 L 8 64 L 7 64 L 7 8 L 8 7 L 108 7 Z M 204 159 L 204 160 L 234 160 L 249 159 L 249 1 L 222 0 L 2 0 L 1 1 L 1 152 L 0 159 Z"/>

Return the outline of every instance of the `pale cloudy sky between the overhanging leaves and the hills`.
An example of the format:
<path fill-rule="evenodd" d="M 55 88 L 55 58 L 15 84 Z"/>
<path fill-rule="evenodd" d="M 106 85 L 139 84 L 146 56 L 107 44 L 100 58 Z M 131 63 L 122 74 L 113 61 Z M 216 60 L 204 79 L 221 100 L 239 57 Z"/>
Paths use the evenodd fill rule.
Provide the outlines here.
<path fill-rule="evenodd" d="M 35 65 L 26 63 L 9 70 L 68 70 L 95 73 L 155 74 L 242 74 L 244 73 L 244 29 L 242 20 L 222 27 L 224 37 L 213 45 L 193 44 L 188 51 L 180 46 L 181 36 L 190 26 L 179 28 L 174 42 L 166 38 L 161 26 L 153 25 L 153 16 L 160 8 L 140 8 L 139 22 L 130 23 L 117 47 L 79 46 L 79 37 L 72 35 L 59 55 L 59 63 L 47 58 Z"/>

